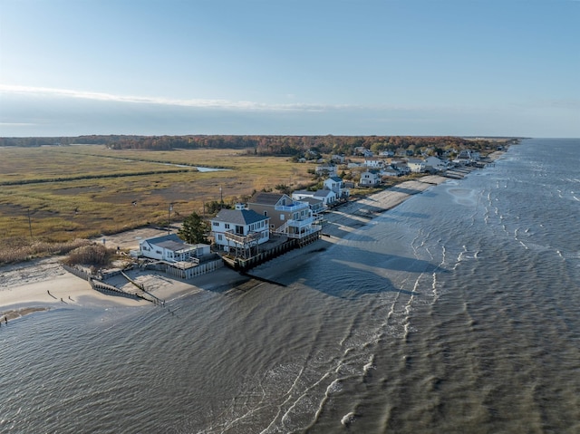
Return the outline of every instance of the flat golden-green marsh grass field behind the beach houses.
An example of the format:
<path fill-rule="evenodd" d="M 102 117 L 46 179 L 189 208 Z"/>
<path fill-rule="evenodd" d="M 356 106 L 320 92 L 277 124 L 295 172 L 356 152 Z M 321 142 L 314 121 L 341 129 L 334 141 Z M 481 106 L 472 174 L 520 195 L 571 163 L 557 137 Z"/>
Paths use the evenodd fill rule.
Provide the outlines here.
<path fill-rule="evenodd" d="M 228 170 L 201 172 L 196 166 Z M 220 188 L 224 202 L 233 203 L 278 184 L 308 185 L 308 169 L 313 166 L 237 149 L 0 148 L 0 244 L 18 238 L 63 242 L 165 225 L 170 203 L 176 221 L 219 201 Z"/>

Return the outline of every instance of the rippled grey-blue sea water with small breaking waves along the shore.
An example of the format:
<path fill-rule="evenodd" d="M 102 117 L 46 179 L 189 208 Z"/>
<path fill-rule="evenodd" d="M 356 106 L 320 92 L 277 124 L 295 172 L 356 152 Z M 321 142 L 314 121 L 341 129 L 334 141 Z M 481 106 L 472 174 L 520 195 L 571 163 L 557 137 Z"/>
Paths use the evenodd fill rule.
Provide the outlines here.
<path fill-rule="evenodd" d="M 579 163 L 580 140 L 524 140 L 285 287 L 9 323 L 0 430 L 580 432 Z"/>

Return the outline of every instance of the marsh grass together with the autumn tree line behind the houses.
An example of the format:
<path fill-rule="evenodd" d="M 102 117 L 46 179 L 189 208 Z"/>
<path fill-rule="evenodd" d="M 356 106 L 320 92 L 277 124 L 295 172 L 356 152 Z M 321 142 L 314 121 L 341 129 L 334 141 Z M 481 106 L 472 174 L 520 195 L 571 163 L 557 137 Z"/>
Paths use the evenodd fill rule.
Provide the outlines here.
<path fill-rule="evenodd" d="M 68 145 L 80 140 L 90 144 Z M 503 141 L 379 136 L 0 139 L 0 263 L 69 251 L 74 248 L 69 243 L 77 246 L 72 240 L 167 227 L 194 215 L 203 220 L 221 207 L 247 201 L 256 191 L 320 188 L 316 159 L 341 153 L 362 160 L 353 155 L 356 147 L 395 149 L 404 155 L 469 147 L 485 155 Z M 61 146 L 41 146 L 54 143 Z M 156 143 L 170 146 L 159 150 L 165 144 Z M 299 156 L 310 163 L 298 163 Z M 353 170 L 342 165 L 339 174 L 355 180 L 358 172 Z M 406 179 L 393 178 L 386 186 Z M 352 193 L 373 191 L 354 188 Z"/>

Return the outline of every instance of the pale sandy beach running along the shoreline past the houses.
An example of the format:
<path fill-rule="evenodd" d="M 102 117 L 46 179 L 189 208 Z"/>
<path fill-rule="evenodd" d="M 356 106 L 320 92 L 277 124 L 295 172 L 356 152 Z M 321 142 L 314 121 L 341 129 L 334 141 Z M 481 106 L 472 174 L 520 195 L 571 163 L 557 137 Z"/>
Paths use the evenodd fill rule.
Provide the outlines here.
<path fill-rule="evenodd" d="M 311 254 L 322 252 L 343 236 L 362 227 L 372 218 L 387 209 L 396 207 L 412 195 L 447 180 L 439 176 L 426 176 L 405 181 L 395 187 L 385 189 L 367 198 L 350 201 L 324 215 L 323 236 L 311 245 L 295 249 L 250 271 L 266 279 L 284 275 L 290 269 L 307 261 Z M 106 243 L 121 248 L 136 248 L 143 237 L 160 236 L 166 232 L 160 229 L 138 229 L 115 236 L 107 236 Z M 120 296 L 106 295 L 94 291 L 82 278 L 66 272 L 61 265 L 61 257 L 37 259 L 31 262 L 4 265 L 0 267 L 0 319 L 8 321 L 27 313 L 63 307 L 109 307 L 148 306 L 148 302 Z M 184 281 L 153 271 L 131 271 L 131 279 L 145 285 L 150 294 L 160 300 L 170 301 L 185 294 L 195 294 L 204 289 L 240 285 L 247 282 L 247 276 L 226 267 L 208 275 L 201 275 Z M 121 276 L 109 281 L 121 289 L 131 289 L 131 283 Z M 257 283 L 256 283 L 257 285 Z"/>

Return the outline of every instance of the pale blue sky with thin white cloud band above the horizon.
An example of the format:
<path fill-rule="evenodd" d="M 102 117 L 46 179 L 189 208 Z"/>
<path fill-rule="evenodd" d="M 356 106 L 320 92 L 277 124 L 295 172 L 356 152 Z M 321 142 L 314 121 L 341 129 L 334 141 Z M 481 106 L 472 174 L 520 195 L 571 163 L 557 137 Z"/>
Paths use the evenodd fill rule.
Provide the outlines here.
<path fill-rule="evenodd" d="M 577 0 L 0 0 L 0 136 L 580 137 Z"/>

